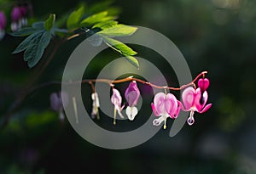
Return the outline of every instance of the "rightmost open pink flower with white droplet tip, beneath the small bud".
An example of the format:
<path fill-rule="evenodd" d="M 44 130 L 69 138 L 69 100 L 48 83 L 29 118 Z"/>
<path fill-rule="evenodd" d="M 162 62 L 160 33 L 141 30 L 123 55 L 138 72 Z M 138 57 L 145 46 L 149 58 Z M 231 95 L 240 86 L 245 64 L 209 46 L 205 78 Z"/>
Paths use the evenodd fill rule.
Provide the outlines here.
<path fill-rule="evenodd" d="M 195 112 L 204 113 L 212 106 L 212 104 L 207 104 L 207 91 L 201 93 L 200 87 L 198 87 L 196 90 L 193 87 L 187 87 L 183 91 L 182 98 L 184 110 L 190 111 L 190 115 L 187 121 L 190 126 L 195 122 Z"/>

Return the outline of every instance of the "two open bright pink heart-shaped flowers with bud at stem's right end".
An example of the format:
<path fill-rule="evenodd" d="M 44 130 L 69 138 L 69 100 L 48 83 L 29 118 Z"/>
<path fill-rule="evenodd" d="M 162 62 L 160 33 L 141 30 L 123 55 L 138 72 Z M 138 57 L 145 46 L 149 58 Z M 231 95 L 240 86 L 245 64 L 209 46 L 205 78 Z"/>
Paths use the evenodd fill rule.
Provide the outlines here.
<path fill-rule="evenodd" d="M 209 87 L 209 80 L 201 78 L 198 81 L 198 87 L 187 87 L 182 93 L 182 102 L 178 101 L 172 93 L 157 93 L 154 96 L 154 103 L 151 104 L 154 115 L 160 118 L 154 119 L 153 125 L 159 126 L 161 122 L 165 121 L 164 128 L 166 129 L 166 119 L 177 118 L 180 110 L 189 111 L 188 124 L 194 124 L 194 113 L 204 113 L 209 109 L 212 104 L 207 104 Z M 207 105 L 206 105 L 207 104 Z"/>

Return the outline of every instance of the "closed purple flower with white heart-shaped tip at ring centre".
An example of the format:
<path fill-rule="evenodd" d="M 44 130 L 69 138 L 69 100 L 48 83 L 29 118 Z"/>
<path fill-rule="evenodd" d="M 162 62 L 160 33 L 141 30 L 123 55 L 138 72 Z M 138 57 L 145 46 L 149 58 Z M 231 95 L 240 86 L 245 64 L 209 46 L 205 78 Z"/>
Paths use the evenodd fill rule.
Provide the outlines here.
<path fill-rule="evenodd" d="M 126 115 L 128 116 L 130 121 L 133 121 L 135 116 L 137 115 L 137 101 L 140 97 L 140 91 L 137 88 L 137 82 L 131 81 L 129 87 L 125 90 L 125 99 L 128 104 L 125 109 Z"/>

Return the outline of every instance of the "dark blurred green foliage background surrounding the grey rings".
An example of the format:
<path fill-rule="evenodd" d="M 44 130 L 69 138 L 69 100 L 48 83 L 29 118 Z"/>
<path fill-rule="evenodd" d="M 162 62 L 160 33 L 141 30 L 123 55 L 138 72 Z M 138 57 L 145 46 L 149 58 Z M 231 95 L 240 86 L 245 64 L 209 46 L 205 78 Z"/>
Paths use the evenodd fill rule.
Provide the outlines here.
<path fill-rule="evenodd" d="M 82 2 L 45 0 L 32 1 L 32 6 L 34 16 L 46 19 L 50 13 L 56 16 L 70 13 L 79 3 Z M 105 5 L 108 4 L 97 4 L 90 9 L 91 13 Z M 60 87 L 44 87 L 26 98 L 9 125 L 1 130 L 0 173 L 256 173 L 256 2 L 131 0 L 116 1 L 114 6 L 121 9 L 120 22 L 143 25 L 168 36 L 183 53 L 193 76 L 208 70 L 212 108 L 204 115 L 195 115 L 195 126 L 184 126 L 174 138 L 168 137 L 169 129 L 161 130 L 147 143 L 116 151 L 87 143 L 67 120 L 61 123 L 58 115 L 49 111 L 49 94 Z M 119 8 L 113 8 L 113 13 Z M 21 54 L 10 54 L 20 41 L 6 36 L 0 42 L 1 118 L 32 73 Z M 63 67 L 79 42 L 81 39 L 75 38 L 63 45 L 38 83 L 61 80 Z M 160 55 L 139 46 L 132 47 L 139 56 L 157 65 L 171 85 L 177 85 L 172 68 Z M 104 51 L 91 62 L 87 76 L 96 77 L 104 65 L 118 57 L 116 53 Z M 87 92 L 84 99 L 90 100 L 90 87 L 84 87 L 83 91 Z M 148 97 L 145 103 L 150 103 L 152 98 Z M 90 109 L 90 102 L 86 107 Z M 145 119 L 143 115 L 150 112 L 150 106 L 145 107 L 145 114 L 137 118 Z M 134 124 L 140 125 L 142 121 Z M 122 126 L 131 128 L 129 123 L 115 128 L 105 118 L 97 124 L 111 130 L 123 130 Z M 168 128 L 171 125 L 172 121 L 168 121 Z"/>

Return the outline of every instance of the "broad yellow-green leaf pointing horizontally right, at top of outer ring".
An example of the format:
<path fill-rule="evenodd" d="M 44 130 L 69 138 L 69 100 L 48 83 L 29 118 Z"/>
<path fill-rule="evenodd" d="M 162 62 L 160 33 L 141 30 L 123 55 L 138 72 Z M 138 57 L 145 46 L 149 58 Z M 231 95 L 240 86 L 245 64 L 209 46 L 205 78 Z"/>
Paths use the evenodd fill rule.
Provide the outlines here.
<path fill-rule="evenodd" d="M 119 24 L 113 25 L 113 27 L 99 31 L 98 34 L 102 36 L 130 36 L 135 31 L 137 31 L 137 27 Z"/>

